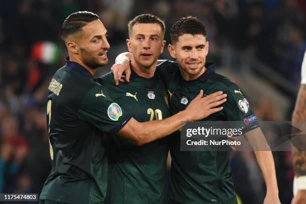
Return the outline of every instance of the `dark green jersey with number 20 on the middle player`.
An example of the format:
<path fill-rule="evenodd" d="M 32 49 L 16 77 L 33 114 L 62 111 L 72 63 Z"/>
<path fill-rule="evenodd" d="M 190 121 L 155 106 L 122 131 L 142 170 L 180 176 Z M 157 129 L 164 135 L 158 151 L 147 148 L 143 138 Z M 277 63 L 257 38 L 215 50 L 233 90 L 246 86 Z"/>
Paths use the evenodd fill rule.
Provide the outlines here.
<path fill-rule="evenodd" d="M 170 116 L 167 93 L 157 74 L 144 78 L 134 71 L 129 83 L 114 85 L 112 73 L 101 78 L 112 98 L 127 109 L 138 121 L 163 119 Z M 100 81 L 100 80 L 99 80 Z M 107 203 L 160 203 L 163 197 L 164 175 L 168 155 L 168 138 L 142 146 L 122 145 L 118 140 L 111 144 Z"/>

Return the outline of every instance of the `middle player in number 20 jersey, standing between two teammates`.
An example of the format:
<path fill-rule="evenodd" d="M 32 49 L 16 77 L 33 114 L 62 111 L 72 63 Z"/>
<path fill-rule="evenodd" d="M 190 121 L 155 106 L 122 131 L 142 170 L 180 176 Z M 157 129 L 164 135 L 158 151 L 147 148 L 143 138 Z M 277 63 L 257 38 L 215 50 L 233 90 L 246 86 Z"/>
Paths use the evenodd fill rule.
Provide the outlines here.
<path fill-rule="evenodd" d="M 111 72 L 98 79 L 113 100 L 141 122 L 170 116 L 167 89 L 156 66 L 165 44 L 164 31 L 164 22 L 154 15 L 134 17 L 128 23 L 126 40 L 132 53 L 130 82 L 115 86 Z M 124 145 L 126 141 L 114 137 L 111 143 L 106 202 L 161 203 L 168 138 L 134 146 Z"/>

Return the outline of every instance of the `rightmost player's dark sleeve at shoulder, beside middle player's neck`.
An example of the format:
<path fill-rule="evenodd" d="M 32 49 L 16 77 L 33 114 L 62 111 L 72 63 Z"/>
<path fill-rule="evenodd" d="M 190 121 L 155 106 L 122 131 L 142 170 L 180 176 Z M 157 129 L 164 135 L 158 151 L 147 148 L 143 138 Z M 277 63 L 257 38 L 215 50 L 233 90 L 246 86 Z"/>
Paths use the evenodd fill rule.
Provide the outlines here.
<path fill-rule="evenodd" d="M 157 60 L 156 70 L 168 87 L 169 82 L 174 77 L 175 72 L 179 71 L 179 66 L 175 61 L 159 59 Z"/>

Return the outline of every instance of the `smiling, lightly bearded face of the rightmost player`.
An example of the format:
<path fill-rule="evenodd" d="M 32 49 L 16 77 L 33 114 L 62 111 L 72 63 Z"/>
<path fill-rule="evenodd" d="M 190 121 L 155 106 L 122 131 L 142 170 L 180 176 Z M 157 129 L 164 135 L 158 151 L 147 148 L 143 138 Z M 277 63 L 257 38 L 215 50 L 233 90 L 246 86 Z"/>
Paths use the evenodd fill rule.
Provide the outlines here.
<path fill-rule="evenodd" d="M 202 34 L 182 34 L 177 41 L 168 45 L 168 50 L 179 65 L 182 77 L 185 80 L 193 80 L 199 77 L 205 70 L 208 42 Z"/>

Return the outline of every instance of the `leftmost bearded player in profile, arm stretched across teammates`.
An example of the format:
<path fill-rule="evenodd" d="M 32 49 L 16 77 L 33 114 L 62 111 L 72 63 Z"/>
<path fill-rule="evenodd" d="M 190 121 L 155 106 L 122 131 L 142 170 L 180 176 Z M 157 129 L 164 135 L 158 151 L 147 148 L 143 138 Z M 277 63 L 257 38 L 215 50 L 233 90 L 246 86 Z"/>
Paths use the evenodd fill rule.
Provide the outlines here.
<path fill-rule="evenodd" d="M 61 26 L 69 57 L 48 86 L 47 126 L 53 167 L 40 203 L 103 203 L 107 187 L 107 156 L 102 132 L 117 133 L 137 145 L 161 138 L 181 120 L 200 119 L 219 110 L 223 96 L 198 97 L 186 111 L 164 120 L 138 122 L 113 102 L 92 75 L 108 62 L 107 31 L 94 13 L 70 14 Z M 217 102 L 215 102 L 217 101 Z M 209 106 L 198 110 L 198 106 Z"/>

